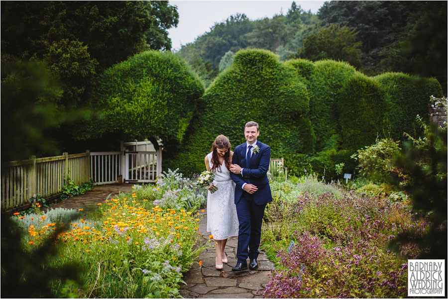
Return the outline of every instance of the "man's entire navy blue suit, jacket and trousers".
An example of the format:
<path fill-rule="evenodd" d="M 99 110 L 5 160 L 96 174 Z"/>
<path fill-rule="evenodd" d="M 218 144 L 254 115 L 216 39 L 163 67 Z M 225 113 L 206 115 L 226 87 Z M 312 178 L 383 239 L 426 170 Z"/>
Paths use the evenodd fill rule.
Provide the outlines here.
<path fill-rule="evenodd" d="M 247 257 L 250 259 L 258 257 L 264 208 L 272 201 L 269 179 L 266 175 L 271 148 L 259 141 L 256 145 L 260 150 L 252 154 L 249 161 L 246 161 L 246 143 L 235 148 L 232 158 L 232 164 L 238 164 L 243 168 L 243 176 L 230 172 L 230 177 L 236 184 L 235 204 L 239 221 L 237 263 L 246 263 Z M 258 190 L 254 194 L 249 194 L 242 189 L 244 183 L 255 185 Z"/>

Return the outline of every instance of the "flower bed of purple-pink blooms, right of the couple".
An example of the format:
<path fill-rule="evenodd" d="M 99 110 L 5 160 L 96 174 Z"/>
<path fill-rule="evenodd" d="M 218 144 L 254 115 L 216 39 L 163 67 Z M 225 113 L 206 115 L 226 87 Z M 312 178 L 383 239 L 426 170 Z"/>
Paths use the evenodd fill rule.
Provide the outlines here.
<path fill-rule="evenodd" d="M 386 245 L 405 227 L 425 230 L 427 223 L 412 221 L 407 205 L 343 190 L 315 196 L 299 192 L 300 184 L 276 186 L 262 239 L 277 267 L 264 298 L 406 297 L 407 259 Z M 401 254 L 419 252 L 409 244 Z"/>

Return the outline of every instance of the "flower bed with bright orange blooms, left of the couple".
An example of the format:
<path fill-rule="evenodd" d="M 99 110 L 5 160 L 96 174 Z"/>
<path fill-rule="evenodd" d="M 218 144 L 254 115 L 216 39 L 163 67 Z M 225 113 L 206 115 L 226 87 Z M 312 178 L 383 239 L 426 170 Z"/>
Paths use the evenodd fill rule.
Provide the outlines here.
<path fill-rule="evenodd" d="M 148 188 L 153 186 L 99 203 L 97 214 L 101 216 L 97 220 L 83 217 L 72 221 L 70 230 L 58 235 L 59 257 L 49 261 L 48 267 L 80 265 L 82 297 L 179 296 L 182 272 L 203 249 L 193 248 L 202 212 L 162 207 L 138 198 L 138 194 L 148 194 Z M 33 223 L 26 227 L 28 234 L 23 238 L 30 249 L 43 244 L 58 227 L 46 214 L 16 219 L 21 221 Z M 57 280 L 52 283 L 56 296 L 76 293 L 77 288 Z"/>

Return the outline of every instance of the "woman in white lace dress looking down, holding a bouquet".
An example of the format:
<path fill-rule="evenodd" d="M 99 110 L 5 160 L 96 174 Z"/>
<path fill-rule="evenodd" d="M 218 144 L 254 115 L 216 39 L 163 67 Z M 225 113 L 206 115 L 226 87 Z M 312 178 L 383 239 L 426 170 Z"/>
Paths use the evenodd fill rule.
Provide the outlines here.
<path fill-rule="evenodd" d="M 215 240 L 216 269 L 224 268 L 227 263 L 224 253 L 227 238 L 238 235 L 238 218 L 234 203 L 235 183 L 230 178 L 228 169 L 232 163 L 233 152 L 230 142 L 224 135 L 219 135 L 213 142 L 212 152 L 205 157 L 208 171 L 215 173 L 213 184 L 218 190 L 207 196 L 207 231 L 212 233 Z"/>

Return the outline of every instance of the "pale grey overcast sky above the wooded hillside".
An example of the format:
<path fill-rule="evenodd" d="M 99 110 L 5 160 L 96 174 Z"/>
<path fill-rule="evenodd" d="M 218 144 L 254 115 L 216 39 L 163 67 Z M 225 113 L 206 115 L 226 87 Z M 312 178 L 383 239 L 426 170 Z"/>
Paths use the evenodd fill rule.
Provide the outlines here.
<path fill-rule="evenodd" d="M 264 17 L 271 18 L 282 11 L 288 12 L 293 1 L 272 0 L 232 0 L 232 1 L 169 1 L 171 5 L 177 5 L 179 12 L 179 24 L 177 28 L 168 30 L 172 42 L 172 50 L 180 49 L 181 45 L 194 42 L 196 37 L 210 31 L 215 24 L 227 19 L 237 12 L 244 13 L 251 20 Z M 296 1 L 297 6 L 312 12 L 317 12 L 325 1 Z"/>

